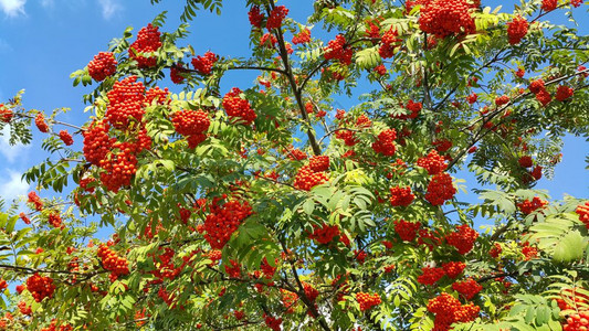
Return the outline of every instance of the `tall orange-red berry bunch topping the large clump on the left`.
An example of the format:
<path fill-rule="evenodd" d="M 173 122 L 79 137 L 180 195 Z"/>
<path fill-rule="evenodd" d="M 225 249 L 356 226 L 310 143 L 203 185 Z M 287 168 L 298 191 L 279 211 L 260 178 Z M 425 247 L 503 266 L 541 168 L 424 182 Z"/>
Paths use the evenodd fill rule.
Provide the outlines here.
<path fill-rule="evenodd" d="M 141 121 L 144 117 L 145 86 L 136 82 L 137 76 L 126 77 L 115 82 L 113 89 L 107 93 L 105 118 L 117 129 L 126 129 L 132 118 Z"/>

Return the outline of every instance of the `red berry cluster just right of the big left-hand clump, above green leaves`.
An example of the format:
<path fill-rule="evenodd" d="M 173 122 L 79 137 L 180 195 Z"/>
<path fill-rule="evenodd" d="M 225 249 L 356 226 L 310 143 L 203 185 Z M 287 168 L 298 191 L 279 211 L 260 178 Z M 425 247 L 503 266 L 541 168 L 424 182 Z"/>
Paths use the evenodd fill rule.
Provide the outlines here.
<path fill-rule="evenodd" d="M 193 149 L 207 139 L 204 135 L 209 130 L 211 121 L 209 115 L 202 110 L 185 109 L 173 114 L 171 122 L 176 132 L 187 137 L 188 148 Z"/>

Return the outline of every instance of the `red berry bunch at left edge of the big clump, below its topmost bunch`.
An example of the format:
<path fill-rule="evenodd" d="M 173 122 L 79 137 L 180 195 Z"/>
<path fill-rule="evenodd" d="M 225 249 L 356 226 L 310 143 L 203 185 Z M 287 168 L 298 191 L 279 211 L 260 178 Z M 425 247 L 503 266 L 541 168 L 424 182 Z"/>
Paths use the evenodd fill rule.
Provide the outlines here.
<path fill-rule="evenodd" d="M 111 126 L 106 120 L 94 121 L 82 135 L 84 136 L 84 158 L 94 166 L 106 158 L 115 138 L 108 137 Z"/>

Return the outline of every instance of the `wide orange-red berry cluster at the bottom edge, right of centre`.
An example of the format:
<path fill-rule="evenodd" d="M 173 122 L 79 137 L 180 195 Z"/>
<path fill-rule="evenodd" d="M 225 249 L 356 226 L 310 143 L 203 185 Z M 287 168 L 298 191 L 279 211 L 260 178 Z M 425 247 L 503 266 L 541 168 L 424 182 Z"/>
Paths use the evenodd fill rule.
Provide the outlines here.
<path fill-rule="evenodd" d="M 428 302 L 428 311 L 435 314 L 434 330 L 451 330 L 454 322 L 473 321 L 481 311 L 478 306 L 461 305 L 459 299 L 443 292 Z"/>

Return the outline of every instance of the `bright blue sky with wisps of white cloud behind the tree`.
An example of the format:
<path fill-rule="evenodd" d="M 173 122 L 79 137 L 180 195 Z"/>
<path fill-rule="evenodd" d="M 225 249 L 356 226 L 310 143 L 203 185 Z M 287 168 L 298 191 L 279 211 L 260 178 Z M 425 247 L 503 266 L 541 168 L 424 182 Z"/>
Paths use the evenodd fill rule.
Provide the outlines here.
<path fill-rule="evenodd" d="M 239 6 L 234 6 L 239 2 Z M 51 111 L 53 108 L 72 108 L 62 119 L 81 125 L 87 118 L 83 113 L 84 88 L 72 87 L 70 73 L 84 67 L 92 57 L 105 51 L 108 41 L 122 34 L 128 25 L 135 32 L 146 25 L 162 10 L 168 10 L 171 31 L 179 21 L 183 1 L 162 1 L 151 6 L 149 0 L 0 0 L 0 103 L 25 89 L 24 107 Z M 245 1 L 225 1 L 228 7 L 221 18 L 199 13 L 191 23 L 188 43 L 198 54 L 211 50 L 221 55 L 248 56 L 249 23 Z M 231 3 L 232 6 L 229 6 Z M 303 20 L 313 9 L 313 1 L 280 1 L 291 9 L 291 17 Z M 493 8 L 503 4 L 503 11 L 513 9 L 513 1 L 483 0 Z M 586 9 L 577 9 L 580 18 Z M 564 15 L 560 11 L 551 17 Z M 581 33 L 589 31 L 588 22 L 581 22 Z M 224 84 L 248 87 L 256 73 L 231 73 Z M 171 87 L 171 86 L 170 86 Z M 227 89 L 229 89 L 227 85 Z M 360 87 L 359 89 L 362 89 Z M 341 99 L 344 106 L 353 105 Z M 30 147 L 10 147 L 6 137 L 0 137 L 0 196 L 13 199 L 25 194 L 31 188 L 20 181 L 29 167 L 46 157 L 39 152 L 40 138 L 36 129 L 35 143 Z M 80 143 L 81 137 L 75 137 Z M 80 145 L 78 145 L 80 146 Z M 553 197 L 564 193 L 589 197 L 589 177 L 585 171 L 585 156 L 589 143 L 583 139 L 567 137 L 562 162 L 556 169 L 554 181 L 543 179 L 538 189 L 547 189 Z M 464 177 L 459 174 L 459 177 Z M 467 184 L 474 184 L 466 177 Z M 474 194 L 467 200 L 476 201 Z"/>

